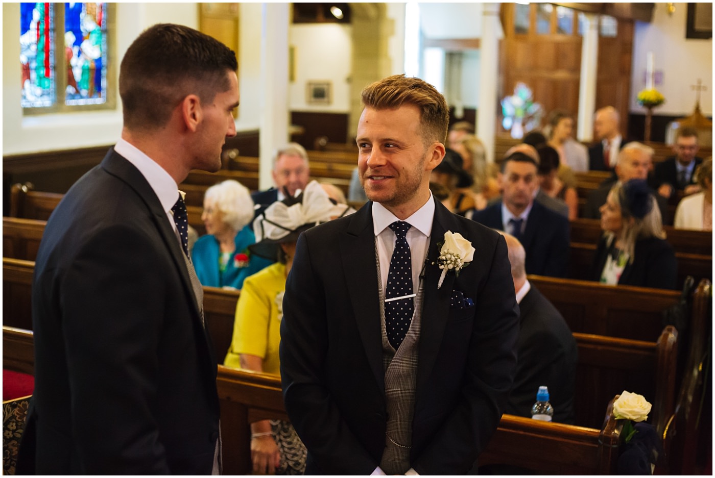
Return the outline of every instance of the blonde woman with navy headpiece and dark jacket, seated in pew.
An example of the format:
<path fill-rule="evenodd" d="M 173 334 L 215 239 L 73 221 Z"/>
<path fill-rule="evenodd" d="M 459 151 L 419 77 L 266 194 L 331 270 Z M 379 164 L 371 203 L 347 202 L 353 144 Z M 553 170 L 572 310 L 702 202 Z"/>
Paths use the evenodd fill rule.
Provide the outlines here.
<path fill-rule="evenodd" d="M 601 206 L 603 236 L 593 262 L 593 280 L 674 289 L 677 264 L 666 242 L 661 212 L 644 179 L 618 182 Z"/>

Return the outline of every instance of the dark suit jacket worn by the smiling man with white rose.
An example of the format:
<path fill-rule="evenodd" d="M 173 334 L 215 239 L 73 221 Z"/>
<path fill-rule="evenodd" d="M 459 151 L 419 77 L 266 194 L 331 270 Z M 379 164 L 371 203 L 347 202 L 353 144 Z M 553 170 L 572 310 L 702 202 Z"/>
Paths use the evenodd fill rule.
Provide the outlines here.
<path fill-rule="evenodd" d="M 492 436 L 516 366 L 518 306 L 506 242 L 435 201 L 424 300 L 411 465 L 464 474 Z M 385 447 L 387 409 L 372 202 L 300 236 L 283 301 L 285 407 L 308 449 L 306 474 L 370 474 Z M 475 247 L 440 289 L 438 242 Z M 473 299 L 450 307 L 454 290 Z"/>

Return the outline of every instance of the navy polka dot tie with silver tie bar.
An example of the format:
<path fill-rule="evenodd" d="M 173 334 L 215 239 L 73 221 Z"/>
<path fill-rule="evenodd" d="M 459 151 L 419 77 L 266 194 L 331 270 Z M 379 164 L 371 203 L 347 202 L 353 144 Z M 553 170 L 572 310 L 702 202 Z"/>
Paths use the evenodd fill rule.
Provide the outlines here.
<path fill-rule="evenodd" d="M 390 345 L 395 350 L 405 339 L 415 310 L 415 296 L 412 292 L 412 254 L 410 254 L 410 244 L 405 237 L 410 227 L 410 224 L 405 221 L 395 221 L 390 224 L 390 229 L 395 232 L 396 238 L 385 289 L 385 328 Z"/>

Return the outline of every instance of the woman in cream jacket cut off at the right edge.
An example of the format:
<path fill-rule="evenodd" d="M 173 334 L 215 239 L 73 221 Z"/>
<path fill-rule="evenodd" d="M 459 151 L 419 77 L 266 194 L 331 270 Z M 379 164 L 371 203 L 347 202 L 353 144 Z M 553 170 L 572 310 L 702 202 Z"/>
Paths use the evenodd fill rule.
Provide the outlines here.
<path fill-rule="evenodd" d="M 675 210 L 677 229 L 713 230 L 713 159 L 709 157 L 695 173 L 696 184 L 701 191 L 686 196 L 678 203 Z"/>

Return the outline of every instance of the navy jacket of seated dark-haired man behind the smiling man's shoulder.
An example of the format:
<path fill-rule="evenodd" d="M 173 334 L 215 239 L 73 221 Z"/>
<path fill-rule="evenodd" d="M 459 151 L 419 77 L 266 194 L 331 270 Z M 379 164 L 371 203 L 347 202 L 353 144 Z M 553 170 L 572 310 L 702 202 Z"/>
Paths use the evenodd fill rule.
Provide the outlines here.
<path fill-rule="evenodd" d="M 493 229 L 504 229 L 501 204 L 498 201 L 486 209 L 475 211 L 472 219 Z M 571 247 L 570 231 L 568 217 L 534 201 L 521 241 L 526 250 L 526 273 L 566 277 Z"/>

